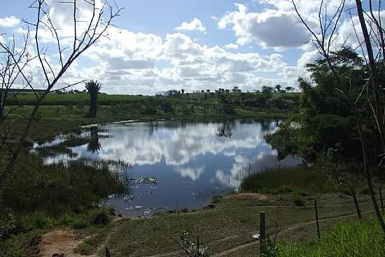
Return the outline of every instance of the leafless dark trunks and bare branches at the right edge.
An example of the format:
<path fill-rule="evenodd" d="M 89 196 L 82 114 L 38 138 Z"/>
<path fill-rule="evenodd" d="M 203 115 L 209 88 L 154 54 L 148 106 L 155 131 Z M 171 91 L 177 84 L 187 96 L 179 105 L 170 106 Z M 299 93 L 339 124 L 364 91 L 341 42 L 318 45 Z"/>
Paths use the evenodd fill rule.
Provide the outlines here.
<path fill-rule="evenodd" d="M 379 97 L 379 83 L 378 83 L 378 77 L 377 77 L 377 60 L 374 58 L 374 51 L 372 48 L 371 41 L 375 41 L 376 46 L 378 48 L 377 53 L 384 53 L 384 36 L 383 32 L 384 30 L 381 27 L 381 18 L 378 14 L 378 17 L 376 17 L 372 11 L 372 1 L 370 1 L 370 14 L 367 14 L 363 11 L 362 3 L 360 0 L 356 0 L 356 11 L 358 13 L 358 18 L 360 20 L 360 27 L 363 31 L 363 42 L 360 42 L 360 39 L 358 38 L 358 34 L 356 32 L 356 28 L 353 28 L 356 32 L 356 36 L 359 42 L 360 48 L 363 50 L 362 44 L 365 43 L 366 47 L 366 53 L 368 56 L 368 60 L 365 60 L 366 63 L 370 67 L 370 79 L 365 83 L 365 85 L 362 86 L 361 94 L 357 97 L 354 97 L 351 92 L 351 84 L 349 78 L 342 78 L 336 70 L 336 67 L 332 64 L 332 61 L 330 60 L 330 51 L 333 46 L 333 42 L 338 38 L 338 25 L 342 17 L 342 13 L 344 11 L 345 7 L 345 0 L 339 0 L 339 5 L 335 9 L 335 11 L 330 12 L 328 9 L 328 4 L 326 1 L 321 0 L 319 9 L 318 9 L 318 24 L 317 27 L 311 27 L 309 25 L 309 22 L 304 19 L 303 15 L 301 15 L 299 9 L 297 8 L 297 3 L 294 0 L 291 0 L 293 3 L 293 7 L 295 9 L 295 12 L 297 13 L 297 16 L 300 18 L 300 21 L 304 25 L 304 27 L 307 28 L 309 33 L 312 36 L 311 42 L 316 47 L 318 52 L 325 58 L 326 62 L 328 63 L 328 67 L 330 71 L 332 71 L 332 74 L 334 74 L 335 79 L 337 81 L 336 90 L 339 92 L 342 92 L 343 95 L 346 96 L 346 99 L 348 99 L 349 104 L 351 106 L 351 109 L 353 111 L 354 118 L 356 120 L 358 135 L 360 137 L 361 141 L 361 151 L 363 155 L 363 165 L 365 169 L 365 174 L 367 178 L 367 186 L 370 191 L 372 203 L 374 206 L 374 210 L 377 215 L 377 219 L 381 225 L 381 228 L 385 232 L 385 222 L 384 218 L 381 214 L 381 211 L 379 210 L 377 199 L 374 193 L 374 186 L 372 181 L 372 172 L 369 169 L 368 164 L 368 151 L 367 151 L 367 140 L 365 139 L 365 135 L 363 134 L 363 127 L 364 127 L 364 121 L 360 117 L 360 112 L 362 111 L 362 106 L 358 105 L 358 99 L 363 96 L 363 92 L 366 92 L 366 99 L 367 102 L 370 104 L 372 112 L 374 114 L 374 118 L 376 120 L 376 125 L 379 131 L 379 136 L 381 137 L 381 144 L 383 151 L 385 152 L 385 144 L 384 144 L 384 110 L 383 104 L 381 103 L 381 99 Z M 381 2 L 379 3 L 379 6 L 381 6 Z M 372 35 L 367 31 L 367 25 L 366 20 L 364 17 L 367 15 L 368 18 L 370 18 L 374 24 L 377 27 L 377 33 L 374 32 L 374 29 L 370 29 L 371 32 L 374 32 Z M 372 28 L 372 27 L 371 27 Z M 364 52 L 364 50 L 363 50 Z M 365 57 L 365 53 L 363 54 Z M 370 97 L 370 92 L 372 92 L 372 95 L 374 97 Z M 374 98 L 374 104 L 371 102 L 371 98 Z"/>

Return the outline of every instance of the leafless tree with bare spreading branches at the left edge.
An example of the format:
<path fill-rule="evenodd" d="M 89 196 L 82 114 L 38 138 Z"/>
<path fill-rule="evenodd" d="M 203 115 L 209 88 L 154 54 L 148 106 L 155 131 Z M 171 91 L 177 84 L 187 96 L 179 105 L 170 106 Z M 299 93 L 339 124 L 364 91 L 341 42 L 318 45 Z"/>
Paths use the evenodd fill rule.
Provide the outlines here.
<path fill-rule="evenodd" d="M 69 88 L 83 81 L 77 81 L 73 83 L 62 84 L 60 79 L 63 78 L 64 74 L 71 67 L 71 64 L 80 57 L 85 50 L 90 48 L 92 45 L 97 43 L 100 39 L 107 37 L 107 30 L 113 26 L 113 19 L 120 15 L 122 8 L 118 8 L 115 2 L 110 4 L 109 1 L 102 1 L 102 5 L 99 6 L 99 1 L 96 0 L 68 0 L 68 1 L 57 1 L 59 5 L 66 5 L 65 7 L 71 6 L 72 10 L 72 21 L 73 34 L 71 36 L 72 43 L 63 40 L 60 36 L 61 28 L 55 25 L 55 20 L 50 16 L 50 6 L 48 6 L 45 0 L 35 0 L 29 6 L 36 11 L 36 19 L 31 22 L 23 20 L 25 25 L 28 27 L 27 33 L 25 34 L 25 43 L 22 50 L 18 50 L 15 46 L 15 41 L 11 43 L 4 43 L 0 41 L 1 55 L 3 56 L 1 63 L 1 79 L 3 81 L 3 88 L 1 90 L 1 110 L 5 110 L 6 97 L 8 93 L 15 88 L 27 88 L 34 93 L 36 102 L 31 114 L 27 120 L 24 130 L 18 139 L 18 143 L 14 150 L 11 151 L 10 159 L 6 168 L 0 174 L 0 183 L 2 183 L 6 176 L 12 172 L 18 156 L 22 152 L 22 148 L 25 145 L 27 135 L 31 130 L 31 126 L 34 123 L 38 109 L 50 92 L 63 90 Z M 80 18 L 80 4 L 87 6 L 92 15 L 87 20 Z M 31 29 L 29 31 L 29 29 Z M 30 40 L 29 34 L 34 33 L 34 39 Z M 48 53 L 47 47 L 43 46 L 41 40 L 41 34 L 49 32 L 52 35 L 56 44 L 55 54 L 57 56 L 57 63 L 53 63 L 50 56 L 54 56 L 52 49 Z M 33 42 L 31 42 L 33 41 Z M 29 48 L 33 48 L 34 53 L 29 51 Z M 31 56 L 33 55 L 33 56 Z M 31 74 L 28 74 L 25 69 L 28 67 L 31 60 L 38 60 L 38 66 L 43 74 L 43 82 L 35 82 L 32 79 Z M 18 80 L 22 83 L 17 82 Z M 17 85 L 16 85 L 17 84 Z M 43 85 L 43 90 L 36 90 Z M 4 94 L 7 94 L 4 97 Z M 0 146 L 6 145 L 6 133 L 0 137 Z"/>

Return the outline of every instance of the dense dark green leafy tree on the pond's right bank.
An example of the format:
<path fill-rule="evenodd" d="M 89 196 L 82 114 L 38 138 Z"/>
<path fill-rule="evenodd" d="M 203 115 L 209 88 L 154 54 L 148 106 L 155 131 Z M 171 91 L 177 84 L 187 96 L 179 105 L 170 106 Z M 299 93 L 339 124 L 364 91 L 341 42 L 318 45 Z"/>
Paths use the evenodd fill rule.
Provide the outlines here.
<path fill-rule="evenodd" d="M 337 88 L 349 88 L 353 99 L 360 95 L 361 87 L 367 80 L 367 67 L 363 60 L 351 48 L 342 48 L 330 53 L 330 60 L 335 71 L 344 85 L 337 85 L 335 74 L 332 73 L 328 62 L 321 58 L 314 64 L 307 64 L 314 84 L 299 78 L 300 88 L 303 91 L 300 99 L 300 111 L 293 115 L 279 131 L 267 137 L 274 148 L 279 152 L 279 157 L 297 153 L 306 160 L 312 161 L 317 155 L 327 153 L 330 148 L 339 146 L 339 157 L 344 159 L 360 158 L 360 142 L 354 140 L 358 137 L 356 123 L 348 99 Z M 358 115 L 368 124 L 365 127 L 367 138 L 376 140 L 370 108 L 365 107 L 365 97 L 357 100 L 357 104 L 364 106 Z M 370 141 L 369 148 L 378 147 Z M 372 158 L 374 159 L 374 158 Z"/>

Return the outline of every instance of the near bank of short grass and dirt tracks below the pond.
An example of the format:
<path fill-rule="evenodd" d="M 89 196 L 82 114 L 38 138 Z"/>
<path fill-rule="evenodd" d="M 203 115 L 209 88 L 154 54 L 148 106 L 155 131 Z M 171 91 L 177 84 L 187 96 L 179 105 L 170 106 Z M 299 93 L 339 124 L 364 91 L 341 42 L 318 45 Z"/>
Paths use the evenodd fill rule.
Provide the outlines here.
<path fill-rule="evenodd" d="M 97 240 L 97 235 L 88 239 L 88 249 L 96 249 L 95 245 L 104 243 L 109 246 L 112 256 L 153 256 L 169 253 L 168 256 L 183 256 L 183 252 L 174 240 L 181 232 L 187 231 L 190 239 L 200 236 L 202 246 L 207 246 L 210 253 L 223 253 L 223 256 L 256 256 L 258 241 L 253 239 L 259 230 L 260 211 L 267 214 L 267 229 L 270 235 L 278 231 L 280 242 L 295 237 L 302 240 L 316 238 L 314 227 L 314 199 L 320 202 L 319 216 L 321 218 L 321 232 L 325 233 L 328 226 L 323 222 L 334 224 L 341 218 L 354 218 L 354 208 L 350 197 L 338 194 L 309 195 L 304 207 L 297 207 L 289 197 L 283 195 L 232 195 L 221 198 L 210 209 L 179 214 L 162 214 L 153 218 L 123 219 L 116 226 L 106 242 Z M 277 216 L 276 200 L 280 200 L 281 207 Z M 371 209 L 369 197 L 359 196 L 360 207 L 363 211 Z M 277 219 L 278 218 L 278 219 Z M 277 223 L 278 222 L 278 223 Z M 298 228 L 290 232 L 290 229 Z M 100 231 L 103 233 L 102 231 Z M 231 251 L 235 247 L 237 251 Z M 80 245 L 80 248 L 84 247 Z M 226 253 L 228 251 L 228 253 Z M 93 253 L 94 251 L 92 251 Z M 226 253 L 226 254 L 225 254 Z M 104 256 L 99 253 L 99 256 Z"/>

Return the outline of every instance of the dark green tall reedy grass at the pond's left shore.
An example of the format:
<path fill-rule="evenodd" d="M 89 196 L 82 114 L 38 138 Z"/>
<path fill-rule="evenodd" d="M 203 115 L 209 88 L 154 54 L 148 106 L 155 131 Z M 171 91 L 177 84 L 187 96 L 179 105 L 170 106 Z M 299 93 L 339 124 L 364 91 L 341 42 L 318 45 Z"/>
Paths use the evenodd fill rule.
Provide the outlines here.
<path fill-rule="evenodd" d="M 79 212 L 124 190 L 119 174 L 111 172 L 107 164 L 78 160 L 45 165 L 29 153 L 19 160 L 3 188 L 4 204 L 17 212 Z"/>

